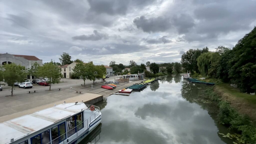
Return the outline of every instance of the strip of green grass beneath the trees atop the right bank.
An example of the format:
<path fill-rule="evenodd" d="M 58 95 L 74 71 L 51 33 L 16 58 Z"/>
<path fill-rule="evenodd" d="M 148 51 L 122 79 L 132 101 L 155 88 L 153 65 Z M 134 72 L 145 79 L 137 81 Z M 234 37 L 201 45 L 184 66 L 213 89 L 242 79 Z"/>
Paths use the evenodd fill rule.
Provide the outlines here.
<path fill-rule="evenodd" d="M 233 88 L 230 86 L 230 84 L 219 84 L 217 85 L 218 89 L 222 89 L 223 92 L 226 92 L 232 96 L 243 98 L 250 102 L 253 105 L 256 105 L 256 96 L 255 95 L 250 95 L 247 93 L 241 93 L 239 88 Z"/>

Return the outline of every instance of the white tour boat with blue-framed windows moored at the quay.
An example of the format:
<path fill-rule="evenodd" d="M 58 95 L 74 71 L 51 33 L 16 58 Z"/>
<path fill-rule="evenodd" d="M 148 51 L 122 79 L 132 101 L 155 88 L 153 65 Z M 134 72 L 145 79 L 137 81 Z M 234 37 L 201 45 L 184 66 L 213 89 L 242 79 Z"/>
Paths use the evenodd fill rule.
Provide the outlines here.
<path fill-rule="evenodd" d="M 100 108 L 63 103 L 0 124 L 1 144 L 79 143 L 101 122 Z"/>

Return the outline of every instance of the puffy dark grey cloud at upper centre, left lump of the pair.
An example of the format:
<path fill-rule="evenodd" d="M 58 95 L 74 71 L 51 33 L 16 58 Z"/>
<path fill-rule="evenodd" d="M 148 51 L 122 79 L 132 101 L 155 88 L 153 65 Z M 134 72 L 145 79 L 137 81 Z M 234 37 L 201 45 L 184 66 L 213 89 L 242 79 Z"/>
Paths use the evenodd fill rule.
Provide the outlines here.
<path fill-rule="evenodd" d="M 171 27 L 170 19 L 165 17 L 146 18 L 145 16 L 136 17 L 133 23 L 143 32 L 165 32 Z"/>

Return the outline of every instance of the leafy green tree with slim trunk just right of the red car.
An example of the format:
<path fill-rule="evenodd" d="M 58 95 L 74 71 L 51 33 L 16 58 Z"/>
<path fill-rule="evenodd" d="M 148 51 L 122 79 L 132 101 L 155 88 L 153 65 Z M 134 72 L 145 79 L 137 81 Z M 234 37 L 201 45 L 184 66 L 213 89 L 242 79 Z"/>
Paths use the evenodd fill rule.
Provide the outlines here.
<path fill-rule="evenodd" d="M 47 81 L 47 83 L 50 84 L 49 90 L 51 90 L 51 84 L 58 84 L 60 82 L 60 78 L 62 78 L 59 67 L 52 62 L 39 67 L 38 76 L 46 77 L 49 79 Z"/>

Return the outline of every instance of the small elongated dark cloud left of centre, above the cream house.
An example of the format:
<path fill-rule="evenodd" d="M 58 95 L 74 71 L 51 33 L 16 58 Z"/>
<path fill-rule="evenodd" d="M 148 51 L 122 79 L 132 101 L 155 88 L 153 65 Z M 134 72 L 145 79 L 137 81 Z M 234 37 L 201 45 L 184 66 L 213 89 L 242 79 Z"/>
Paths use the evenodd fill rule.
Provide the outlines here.
<path fill-rule="evenodd" d="M 99 33 L 97 30 L 93 30 L 93 34 L 91 35 L 80 35 L 72 37 L 73 40 L 101 40 L 101 39 L 109 39 L 108 34 Z"/>

